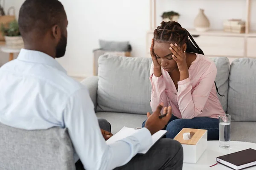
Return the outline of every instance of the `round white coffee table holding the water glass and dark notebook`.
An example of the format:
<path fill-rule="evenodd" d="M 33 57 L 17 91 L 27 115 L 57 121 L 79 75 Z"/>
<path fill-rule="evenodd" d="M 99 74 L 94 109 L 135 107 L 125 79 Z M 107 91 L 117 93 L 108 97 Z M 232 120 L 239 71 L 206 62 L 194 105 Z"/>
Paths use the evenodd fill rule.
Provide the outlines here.
<path fill-rule="evenodd" d="M 245 149 L 255 149 L 255 143 L 249 142 L 230 142 L 229 149 L 222 149 L 219 147 L 218 141 L 208 141 L 207 150 L 204 151 L 203 155 L 199 158 L 196 164 L 183 164 L 183 170 L 232 170 L 222 164 L 217 164 L 213 167 L 209 167 L 213 164 L 216 164 L 216 157 L 227 155 L 229 153 L 238 152 Z M 256 170 L 256 167 L 250 167 L 246 170 Z"/>

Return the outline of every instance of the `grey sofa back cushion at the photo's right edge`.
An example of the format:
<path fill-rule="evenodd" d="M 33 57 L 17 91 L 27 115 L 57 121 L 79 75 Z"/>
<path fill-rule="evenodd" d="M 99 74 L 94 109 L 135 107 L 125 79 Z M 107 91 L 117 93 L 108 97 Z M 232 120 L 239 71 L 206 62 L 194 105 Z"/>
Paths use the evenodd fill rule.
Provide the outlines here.
<path fill-rule="evenodd" d="M 236 59 L 230 65 L 227 113 L 233 121 L 256 121 L 256 59 Z"/>

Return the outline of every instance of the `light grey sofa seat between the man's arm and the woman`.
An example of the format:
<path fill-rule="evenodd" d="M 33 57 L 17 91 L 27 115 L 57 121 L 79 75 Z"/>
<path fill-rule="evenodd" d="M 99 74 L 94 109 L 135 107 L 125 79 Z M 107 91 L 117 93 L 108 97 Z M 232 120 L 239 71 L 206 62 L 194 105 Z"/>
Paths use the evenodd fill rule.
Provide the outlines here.
<path fill-rule="evenodd" d="M 147 119 L 146 115 L 131 113 L 97 112 L 97 117 L 104 118 L 111 124 L 113 134 L 122 129 L 122 127 L 141 127 Z"/>

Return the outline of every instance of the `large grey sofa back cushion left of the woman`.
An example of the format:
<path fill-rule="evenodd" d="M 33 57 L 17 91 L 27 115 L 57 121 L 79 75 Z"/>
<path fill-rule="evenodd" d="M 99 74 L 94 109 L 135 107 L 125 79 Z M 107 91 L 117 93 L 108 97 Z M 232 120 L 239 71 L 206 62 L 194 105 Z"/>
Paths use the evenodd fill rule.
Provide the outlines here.
<path fill-rule="evenodd" d="M 99 57 L 97 111 L 151 112 L 150 58 Z"/>

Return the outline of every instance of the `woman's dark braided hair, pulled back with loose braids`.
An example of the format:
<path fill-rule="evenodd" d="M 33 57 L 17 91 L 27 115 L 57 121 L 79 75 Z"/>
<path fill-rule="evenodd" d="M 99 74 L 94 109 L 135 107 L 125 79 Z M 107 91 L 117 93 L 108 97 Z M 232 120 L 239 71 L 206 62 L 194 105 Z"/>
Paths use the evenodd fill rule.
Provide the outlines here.
<path fill-rule="evenodd" d="M 204 52 L 197 45 L 197 43 L 189 34 L 189 32 L 185 28 L 182 28 L 180 24 L 175 21 L 163 21 L 161 23 L 161 26 L 158 26 L 157 29 L 154 30 L 154 41 L 166 43 L 176 42 L 180 46 L 186 43 L 186 52 L 204 55 Z M 218 92 L 216 82 L 214 83 L 216 90 Z M 222 96 L 221 94 L 219 95 Z"/>

